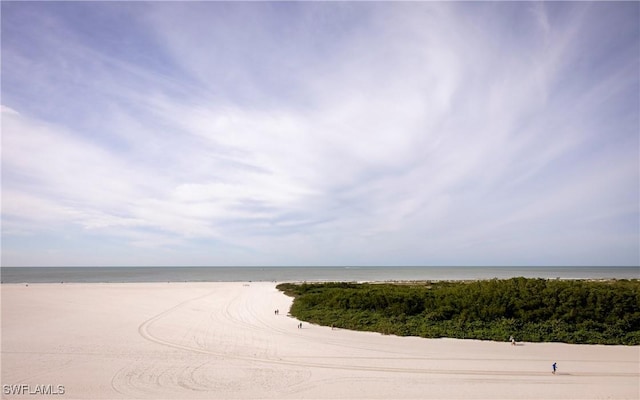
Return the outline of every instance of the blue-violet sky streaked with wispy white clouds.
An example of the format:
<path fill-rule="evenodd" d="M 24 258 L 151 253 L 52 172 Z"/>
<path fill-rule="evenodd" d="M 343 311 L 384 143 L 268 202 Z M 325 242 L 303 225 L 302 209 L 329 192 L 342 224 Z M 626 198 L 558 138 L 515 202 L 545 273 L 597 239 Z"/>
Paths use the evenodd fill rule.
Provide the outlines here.
<path fill-rule="evenodd" d="M 640 265 L 638 2 L 6 2 L 3 266 Z"/>

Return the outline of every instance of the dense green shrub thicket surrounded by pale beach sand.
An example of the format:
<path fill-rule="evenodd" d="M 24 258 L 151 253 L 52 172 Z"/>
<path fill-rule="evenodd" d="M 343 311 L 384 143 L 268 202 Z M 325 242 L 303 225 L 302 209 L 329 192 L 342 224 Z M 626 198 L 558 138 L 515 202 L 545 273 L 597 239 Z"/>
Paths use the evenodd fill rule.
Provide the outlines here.
<path fill-rule="evenodd" d="M 383 334 L 640 345 L 640 281 L 283 283 L 291 314 Z"/>

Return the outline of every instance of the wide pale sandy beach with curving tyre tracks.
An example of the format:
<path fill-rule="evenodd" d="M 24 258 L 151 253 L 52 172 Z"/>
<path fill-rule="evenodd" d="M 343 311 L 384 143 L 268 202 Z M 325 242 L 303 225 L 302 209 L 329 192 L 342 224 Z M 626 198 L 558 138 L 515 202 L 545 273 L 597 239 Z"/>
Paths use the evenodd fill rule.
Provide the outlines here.
<path fill-rule="evenodd" d="M 638 346 L 299 329 L 274 283 L 0 290 L 2 398 L 640 398 Z M 14 385 L 64 394 L 7 394 Z"/>

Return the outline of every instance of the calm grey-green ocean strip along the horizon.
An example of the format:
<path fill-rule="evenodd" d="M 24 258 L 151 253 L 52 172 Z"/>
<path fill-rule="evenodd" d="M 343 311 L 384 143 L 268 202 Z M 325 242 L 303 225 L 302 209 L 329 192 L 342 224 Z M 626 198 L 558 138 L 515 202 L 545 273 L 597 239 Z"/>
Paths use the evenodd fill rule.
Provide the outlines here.
<path fill-rule="evenodd" d="M 2 267 L 1 283 L 640 279 L 640 267 Z"/>

